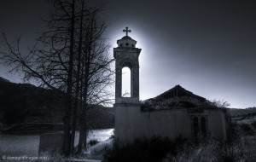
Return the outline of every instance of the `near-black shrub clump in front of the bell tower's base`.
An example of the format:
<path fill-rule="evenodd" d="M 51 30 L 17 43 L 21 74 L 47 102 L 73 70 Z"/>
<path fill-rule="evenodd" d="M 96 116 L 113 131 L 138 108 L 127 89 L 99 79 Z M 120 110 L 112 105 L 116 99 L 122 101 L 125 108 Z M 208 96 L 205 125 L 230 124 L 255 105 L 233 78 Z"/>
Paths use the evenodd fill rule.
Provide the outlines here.
<path fill-rule="evenodd" d="M 176 146 L 168 138 L 154 136 L 150 140 L 137 139 L 132 143 L 115 140 L 112 148 L 106 148 L 104 159 L 111 162 L 160 162 Z"/>

